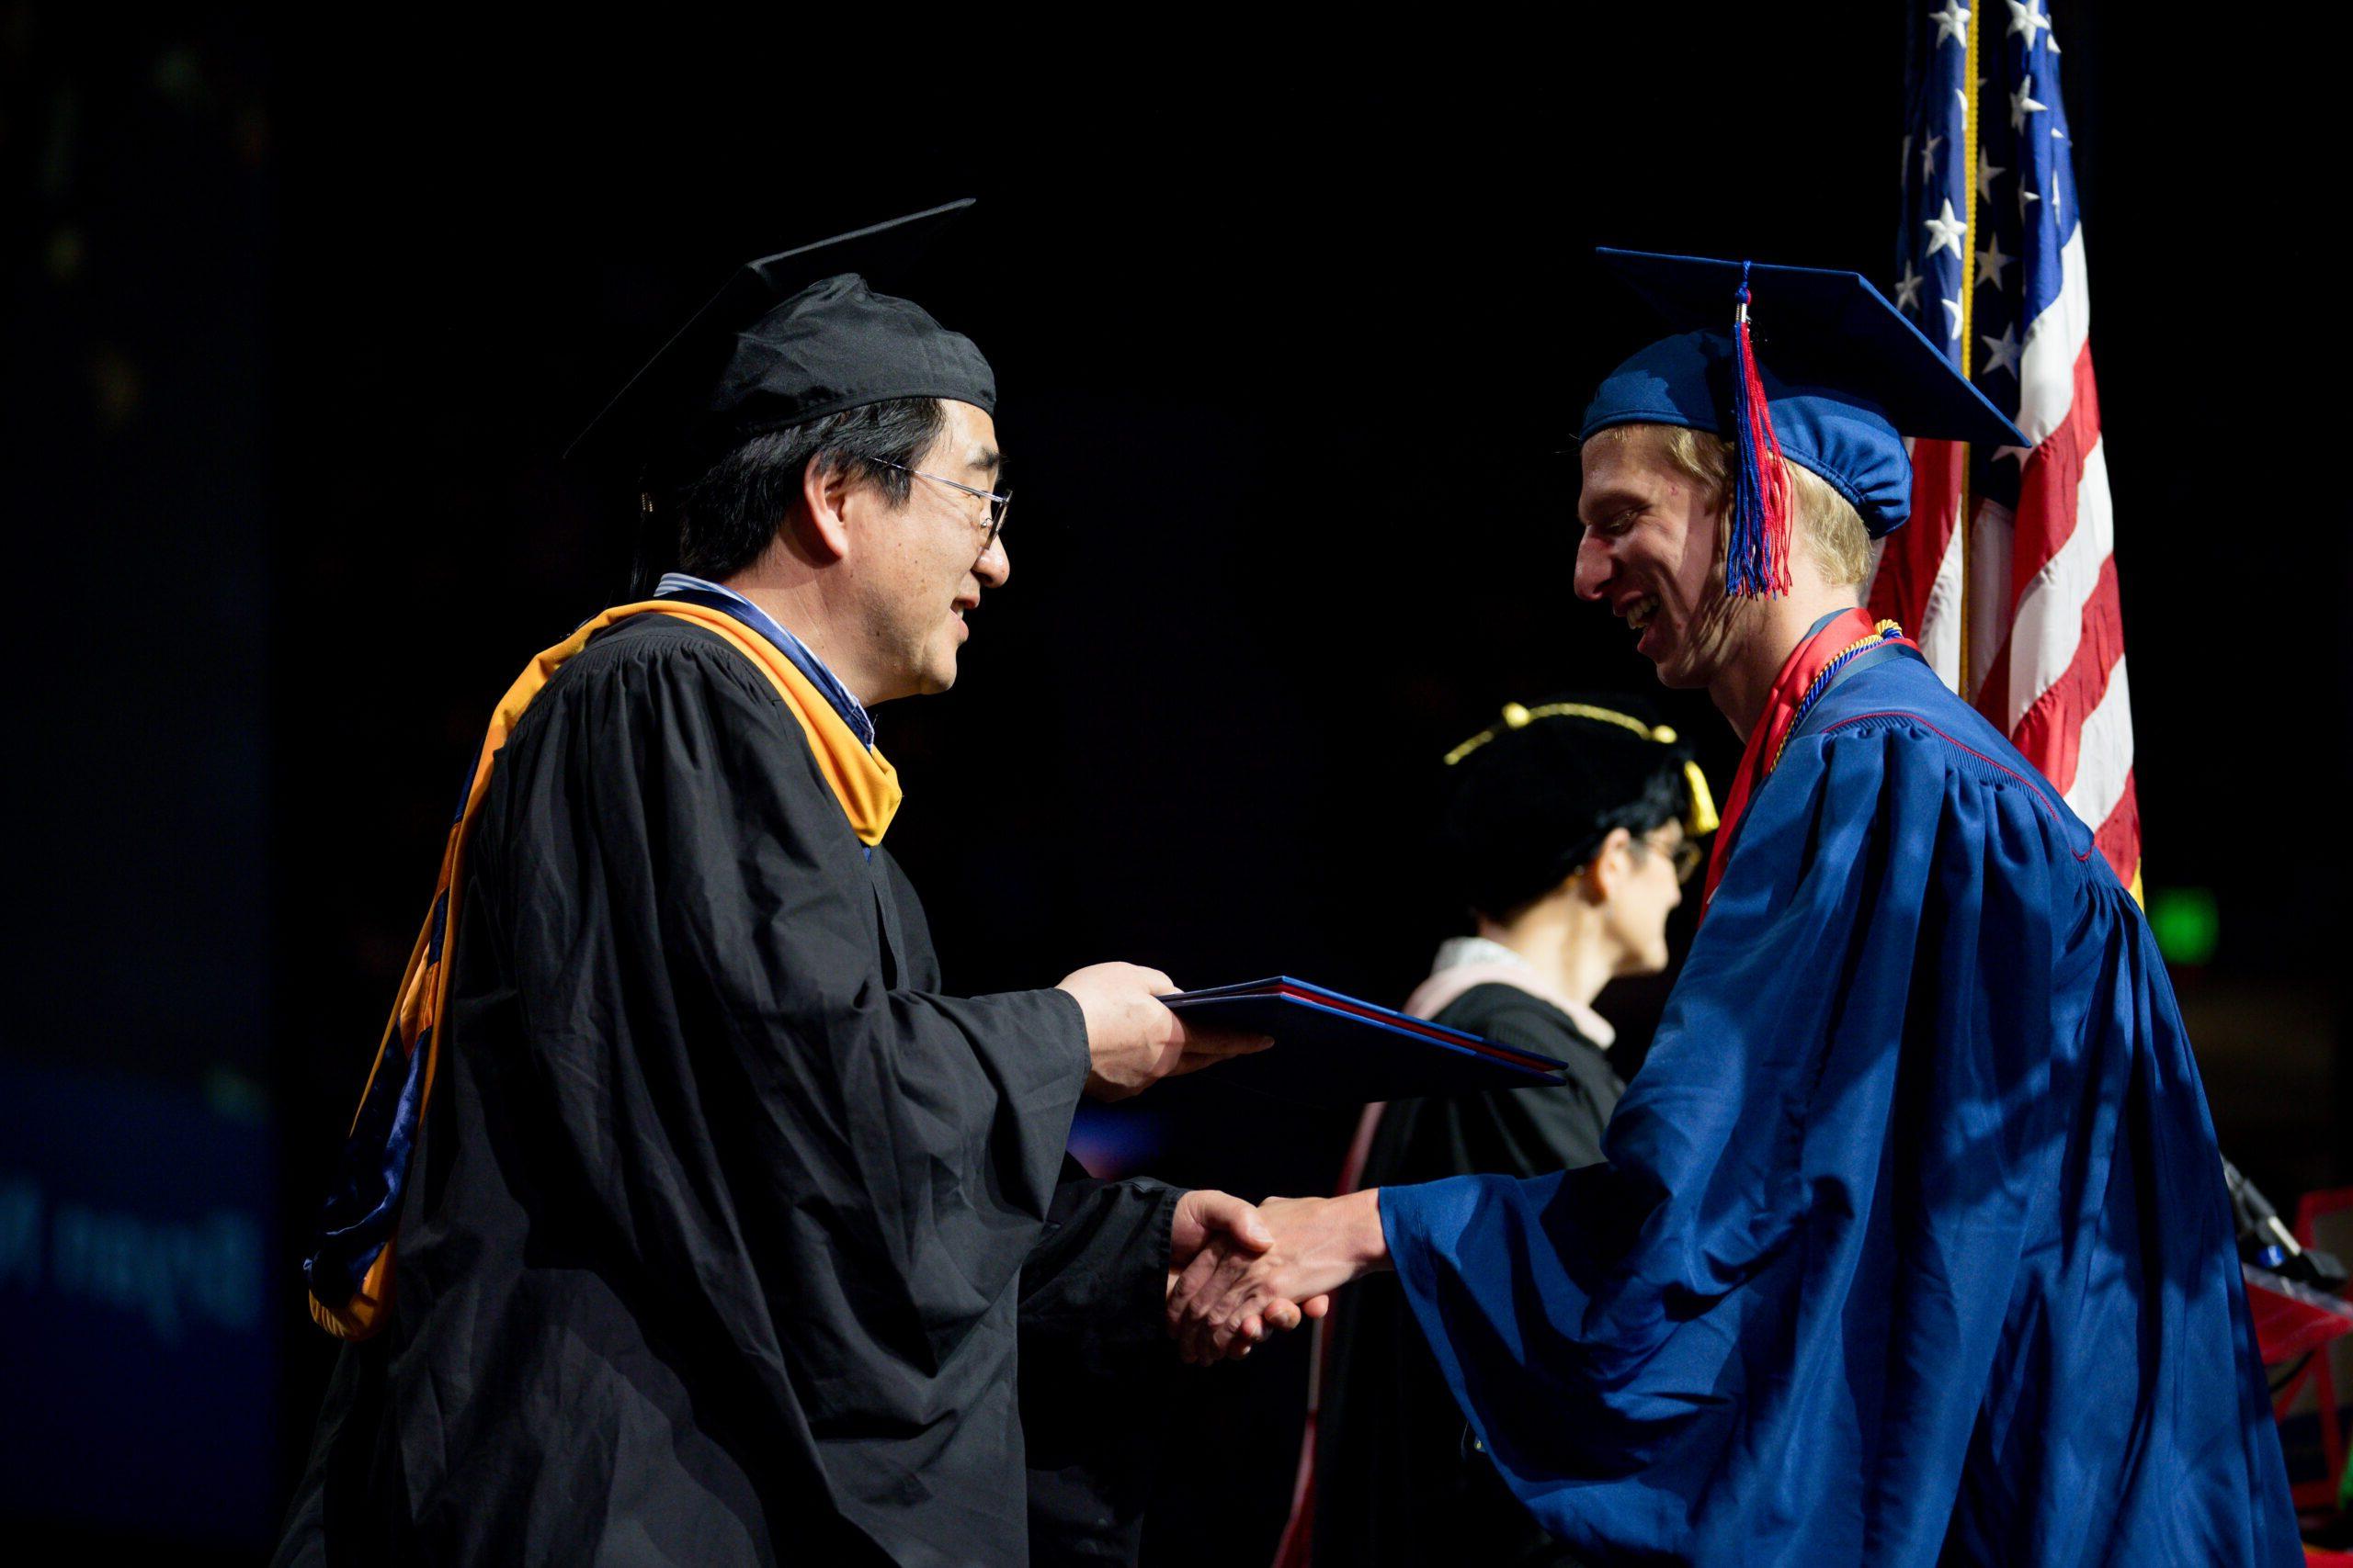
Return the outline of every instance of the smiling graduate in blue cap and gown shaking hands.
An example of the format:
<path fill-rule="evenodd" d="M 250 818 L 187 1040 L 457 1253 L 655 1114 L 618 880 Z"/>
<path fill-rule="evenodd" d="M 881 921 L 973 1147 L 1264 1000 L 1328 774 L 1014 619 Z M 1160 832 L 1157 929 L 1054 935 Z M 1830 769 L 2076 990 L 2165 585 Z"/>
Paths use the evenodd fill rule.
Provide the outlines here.
<path fill-rule="evenodd" d="M 1393 1267 L 1600 1561 L 2301 1561 L 2148 922 L 1859 609 L 1906 435 L 2031 442 L 1854 273 L 1607 256 L 1689 331 L 1586 409 L 1577 592 L 1746 738 L 1699 936 L 1605 1164 L 1268 1201 L 1188 1342 Z"/>

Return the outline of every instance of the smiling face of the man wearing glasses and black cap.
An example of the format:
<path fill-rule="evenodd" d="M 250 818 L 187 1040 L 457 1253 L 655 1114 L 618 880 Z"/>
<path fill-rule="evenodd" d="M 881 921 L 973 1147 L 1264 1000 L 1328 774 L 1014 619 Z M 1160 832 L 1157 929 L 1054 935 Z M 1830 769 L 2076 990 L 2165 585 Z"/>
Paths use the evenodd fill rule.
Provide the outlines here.
<path fill-rule="evenodd" d="M 854 538 L 861 663 L 873 672 L 873 691 L 861 693 L 868 703 L 953 686 L 958 649 L 972 635 L 965 614 L 979 607 L 984 588 L 1012 576 L 1002 536 L 981 550 L 988 503 L 955 489 L 998 489 L 998 425 L 969 402 L 941 409 L 948 428 L 913 463 L 936 477 L 911 477 L 901 505 L 880 484 L 861 484 L 842 505 Z"/>

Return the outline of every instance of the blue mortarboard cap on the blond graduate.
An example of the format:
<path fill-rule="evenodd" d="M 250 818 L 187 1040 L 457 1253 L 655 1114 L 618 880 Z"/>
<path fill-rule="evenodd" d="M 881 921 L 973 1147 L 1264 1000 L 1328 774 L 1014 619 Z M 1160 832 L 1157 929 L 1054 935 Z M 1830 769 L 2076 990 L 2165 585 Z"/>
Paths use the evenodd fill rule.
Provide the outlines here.
<path fill-rule="evenodd" d="M 1906 435 L 2031 444 L 1861 273 L 1619 249 L 1600 259 L 1671 324 L 1692 331 L 1609 371 L 1579 440 L 1631 423 L 1732 440 L 1741 386 L 1732 322 L 1746 282 L 1779 451 L 1845 496 L 1873 538 L 1911 517 Z"/>

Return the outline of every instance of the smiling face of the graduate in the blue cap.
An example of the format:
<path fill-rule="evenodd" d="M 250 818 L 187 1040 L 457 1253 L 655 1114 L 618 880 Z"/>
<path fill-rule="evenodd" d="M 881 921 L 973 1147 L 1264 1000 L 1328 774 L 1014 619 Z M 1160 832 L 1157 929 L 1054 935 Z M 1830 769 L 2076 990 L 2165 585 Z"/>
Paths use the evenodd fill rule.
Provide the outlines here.
<path fill-rule="evenodd" d="M 1617 425 L 1584 444 L 1577 597 L 1635 632 L 1666 686 L 1706 686 L 1741 639 L 1751 607 L 1725 597 L 1722 487 L 1666 454 L 1664 425 Z"/>

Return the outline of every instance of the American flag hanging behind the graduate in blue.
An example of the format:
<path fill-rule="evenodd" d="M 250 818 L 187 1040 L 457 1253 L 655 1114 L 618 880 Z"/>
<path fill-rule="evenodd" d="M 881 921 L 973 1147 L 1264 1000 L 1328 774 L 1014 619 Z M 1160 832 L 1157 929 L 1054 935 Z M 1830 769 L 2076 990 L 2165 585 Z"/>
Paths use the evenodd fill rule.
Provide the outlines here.
<path fill-rule="evenodd" d="M 2092 294 L 2045 0 L 1913 0 L 1894 299 L 2031 449 L 1918 442 L 1871 609 L 2042 769 L 2139 893 Z M 1967 522 L 1962 524 L 1962 517 Z"/>

